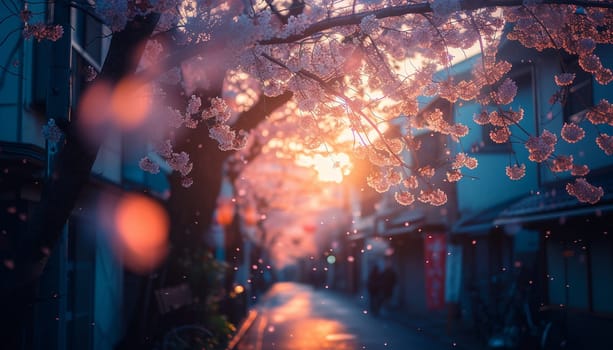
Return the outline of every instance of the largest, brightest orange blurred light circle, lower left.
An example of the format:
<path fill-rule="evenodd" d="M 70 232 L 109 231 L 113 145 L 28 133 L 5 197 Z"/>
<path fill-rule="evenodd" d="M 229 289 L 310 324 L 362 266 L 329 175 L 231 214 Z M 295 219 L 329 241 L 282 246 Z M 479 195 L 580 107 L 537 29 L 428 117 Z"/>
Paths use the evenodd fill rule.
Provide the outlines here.
<path fill-rule="evenodd" d="M 114 223 L 117 244 L 129 269 L 146 273 L 164 259 L 169 219 L 157 202 L 142 195 L 128 194 L 115 209 Z"/>

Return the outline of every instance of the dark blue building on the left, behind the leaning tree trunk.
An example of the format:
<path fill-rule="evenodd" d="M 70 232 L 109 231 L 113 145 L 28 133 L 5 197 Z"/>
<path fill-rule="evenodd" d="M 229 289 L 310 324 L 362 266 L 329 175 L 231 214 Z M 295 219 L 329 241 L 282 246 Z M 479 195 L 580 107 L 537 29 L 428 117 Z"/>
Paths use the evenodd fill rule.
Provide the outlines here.
<path fill-rule="evenodd" d="M 9 33 L 0 47 L 0 251 L 4 260 L 0 268 L 4 269 L 14 268 L 11 254 L 23 243 L 28 217 L 53 164 L 54 145 L 46 142 L 42 127 L 50 118 L 70 118 L 86 84 L 86 71 L 100 70 L 110 43 L 110 30 L 95 17 L 76 7 L 44 2 L 28 4 L 32 21 L 61 23 L 64 36 L 55 43 L 25 40 L 24 23 L 14 4 L 0 5 L 6 7 L 3 14 L 15 13 L 0 22 L 2 33 Z M 8 328 L 17 332 L 10 335 L 9 347 L 112 349 L 123 336 L 135 289 L 111 249 L 111 232 L 100 203 L 117 200 L 125 191 L 159 197 L 167 188 L 163 176 L 138 168 L 138 159 L 147 152 L 143 137 L 114 133 L 101 147 L 91 181 L 60 242 L 51 249 L 31 307 L 24 315 L 15 315 L 16 327 Z"/>

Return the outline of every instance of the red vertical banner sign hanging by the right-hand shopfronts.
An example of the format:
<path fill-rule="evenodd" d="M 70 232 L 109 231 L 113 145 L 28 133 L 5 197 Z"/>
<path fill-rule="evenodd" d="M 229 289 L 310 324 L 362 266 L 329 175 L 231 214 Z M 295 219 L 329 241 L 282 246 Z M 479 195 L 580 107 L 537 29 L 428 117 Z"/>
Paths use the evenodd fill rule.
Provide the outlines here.
<path fill-rule="evenodd" d="M 444 233 L 426 235 L 424 239 L 426 305 L 430 310 L 440 310 L 445 307 L 446 252 Z"/>

